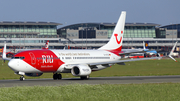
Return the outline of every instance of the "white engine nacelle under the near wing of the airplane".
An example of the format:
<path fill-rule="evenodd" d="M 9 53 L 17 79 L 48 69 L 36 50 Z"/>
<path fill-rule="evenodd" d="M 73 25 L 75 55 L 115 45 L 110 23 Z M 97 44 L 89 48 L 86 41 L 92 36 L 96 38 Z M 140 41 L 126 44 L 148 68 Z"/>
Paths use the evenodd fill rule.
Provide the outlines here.
<path fill-rule="evenodd" d="M 88 65 L 77 65 L 71 69 L 74 76 L 87 76 L 91 74 L 91 68 Z"/>

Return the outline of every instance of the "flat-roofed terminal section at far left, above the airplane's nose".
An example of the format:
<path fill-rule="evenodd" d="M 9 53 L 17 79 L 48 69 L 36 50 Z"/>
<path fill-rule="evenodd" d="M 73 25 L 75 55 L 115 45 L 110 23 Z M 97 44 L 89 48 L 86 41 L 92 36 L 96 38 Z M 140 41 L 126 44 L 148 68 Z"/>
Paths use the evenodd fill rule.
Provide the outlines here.
<path fill-rule="evenodd" d="M 54 22 L 0 22 L 0 47 L 41 48 L 46 40 L 58 43 L 57 26 Z"/>

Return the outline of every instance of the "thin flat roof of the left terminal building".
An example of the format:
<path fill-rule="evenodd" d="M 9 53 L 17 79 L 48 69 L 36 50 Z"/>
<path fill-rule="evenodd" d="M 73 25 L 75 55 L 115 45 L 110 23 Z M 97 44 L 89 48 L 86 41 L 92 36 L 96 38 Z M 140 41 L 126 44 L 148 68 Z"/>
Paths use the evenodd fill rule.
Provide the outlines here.
<path fill-rule="evenodd" d="M 62 25 L 60 23 L 55 22 L 21 22 L 21 21 L 2 21 L 0 25 Z"/>

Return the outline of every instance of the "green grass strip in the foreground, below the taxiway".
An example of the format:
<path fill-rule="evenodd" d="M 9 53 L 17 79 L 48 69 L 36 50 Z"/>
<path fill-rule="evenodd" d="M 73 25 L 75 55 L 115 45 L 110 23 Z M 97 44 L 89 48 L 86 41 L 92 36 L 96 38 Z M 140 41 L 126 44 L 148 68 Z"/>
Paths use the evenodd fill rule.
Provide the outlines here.
<path fill-rule="evenodd" d="M 179 101 L 180 83 L 0 88 L 0 101 Z"/>

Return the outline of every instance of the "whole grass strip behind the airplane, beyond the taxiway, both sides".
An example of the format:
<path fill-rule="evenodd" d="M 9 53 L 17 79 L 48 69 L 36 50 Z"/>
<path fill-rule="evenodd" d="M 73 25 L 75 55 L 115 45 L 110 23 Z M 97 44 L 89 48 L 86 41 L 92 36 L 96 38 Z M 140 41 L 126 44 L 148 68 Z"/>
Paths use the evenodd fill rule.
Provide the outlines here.
<path fill-rule="evenodd" d="M 110 77 L 110 76 L 153 76 L 153 75 L 180 75 L 180 59 L 174 62 L 171 59 L 145 60 L 127 62 L 126 65 L 114 65 L 104 70 L 91 73 L 91 77 Z M 0 61 L 0 79 L 19 79 L 19 75 L 7 66 L 8 61 Z M 52 73 L 44 73 L 35 78 L 52 78 Z M 26 79 L 32 78 L 25 76 Z M 71 73 L 62 73 L 63 78 L 72 78 Z"/>

